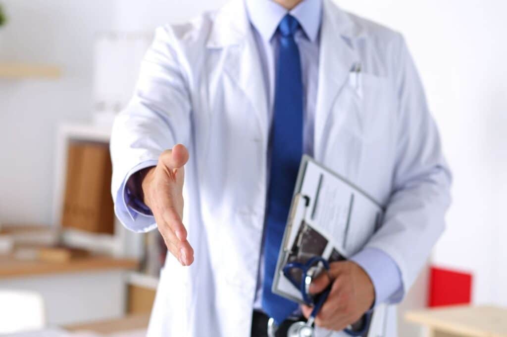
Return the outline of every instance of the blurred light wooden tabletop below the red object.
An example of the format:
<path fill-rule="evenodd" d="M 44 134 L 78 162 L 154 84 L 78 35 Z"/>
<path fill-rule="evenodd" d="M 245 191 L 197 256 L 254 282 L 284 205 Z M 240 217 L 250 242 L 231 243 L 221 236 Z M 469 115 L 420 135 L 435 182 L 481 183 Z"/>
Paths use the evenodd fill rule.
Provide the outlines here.
<path fill-rule="evenodd" d="M 405 319 L 428 328 L 430 337 L 507 337 L 507 309 L 456 306 L 411 311 Z"/>

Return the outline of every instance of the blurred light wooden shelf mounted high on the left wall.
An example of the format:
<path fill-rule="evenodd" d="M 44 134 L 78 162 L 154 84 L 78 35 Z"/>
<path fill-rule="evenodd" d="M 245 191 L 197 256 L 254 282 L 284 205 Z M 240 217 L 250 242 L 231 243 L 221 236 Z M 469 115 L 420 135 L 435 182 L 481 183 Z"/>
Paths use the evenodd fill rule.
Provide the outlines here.
<path fill-rule="evenodd" d="M 0 62 L 0 78 L 47 78 L 56 79 L 61 76 L 57 66 L 28 63 Z"/>

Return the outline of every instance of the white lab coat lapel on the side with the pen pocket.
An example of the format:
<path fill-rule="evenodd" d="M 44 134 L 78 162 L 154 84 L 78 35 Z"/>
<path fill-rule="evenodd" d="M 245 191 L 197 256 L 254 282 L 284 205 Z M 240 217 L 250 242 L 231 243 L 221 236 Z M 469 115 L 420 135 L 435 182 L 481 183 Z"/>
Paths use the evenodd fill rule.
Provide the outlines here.
<path fill-rule="evenodd" d="M 314 156 L 323 159 L 329 113 L 347 83 L 359 55 L 354 49 L 360 31 L 355 31 L 348 14 L 341 11 L 331 0 L 324 0 L 320 30 L 320 56 L 318 94 L 315 113 Z M 346 111 L 344 111 L 346 113 Z"/>

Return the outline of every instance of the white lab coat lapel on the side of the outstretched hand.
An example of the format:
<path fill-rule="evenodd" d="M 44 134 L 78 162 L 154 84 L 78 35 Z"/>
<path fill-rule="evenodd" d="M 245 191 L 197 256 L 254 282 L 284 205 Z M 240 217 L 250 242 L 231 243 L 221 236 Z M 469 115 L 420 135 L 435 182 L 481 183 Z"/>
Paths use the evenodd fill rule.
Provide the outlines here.
<path fill-rule="evenodd" d="M 268 100 L 263 69 L 244 3 L 235 0 L 224 6 L 214 20 L 207 47 L 226 53 L 224 71 L 232 77 L 255 110 L 263 143 L 267 146 Z M 234 93 L 232 93 L 234 94 Z M 238 113 L 248 113 L 244 111 Z"/>

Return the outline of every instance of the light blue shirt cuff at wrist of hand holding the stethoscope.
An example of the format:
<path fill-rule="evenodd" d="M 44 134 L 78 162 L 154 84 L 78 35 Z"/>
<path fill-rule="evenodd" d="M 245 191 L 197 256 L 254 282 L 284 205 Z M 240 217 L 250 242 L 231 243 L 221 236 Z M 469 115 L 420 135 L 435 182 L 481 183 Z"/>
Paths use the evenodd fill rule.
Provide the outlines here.
<path fill-rule="evenodd" d="M 401 301 L 403 282 L 400 268 L 384 251 L 378 248 L 365 248 L 349 260 L 363 268 L 372 280 L 375 289 L 374 306 Z"/>

